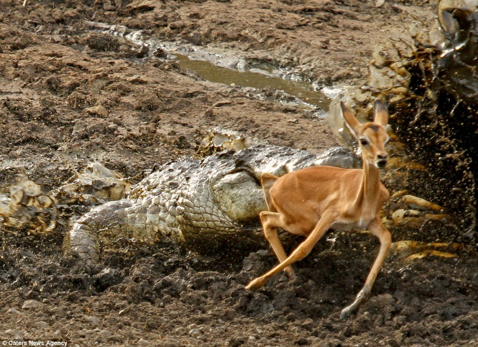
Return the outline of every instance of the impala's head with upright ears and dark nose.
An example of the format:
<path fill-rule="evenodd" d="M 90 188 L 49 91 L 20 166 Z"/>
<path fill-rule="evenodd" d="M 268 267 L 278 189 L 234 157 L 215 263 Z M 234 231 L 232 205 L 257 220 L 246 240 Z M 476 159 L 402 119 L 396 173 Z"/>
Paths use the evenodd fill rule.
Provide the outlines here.
<path fill-rule="evenodd" d="M 355 118 L 343 102 L 341 106 L 343 117 L 352 130 L 352 134 L 357 138 L 362 150 L 364 162 L 374 165 L 377 169 L 384 169 L 387 166 L 389 157 L 385 150 L 385 145 L 390 139 L 385 130 L 389 120 L 387 106 L 382 101 L 375 101 L 374 121 L 364 124 Z"/>

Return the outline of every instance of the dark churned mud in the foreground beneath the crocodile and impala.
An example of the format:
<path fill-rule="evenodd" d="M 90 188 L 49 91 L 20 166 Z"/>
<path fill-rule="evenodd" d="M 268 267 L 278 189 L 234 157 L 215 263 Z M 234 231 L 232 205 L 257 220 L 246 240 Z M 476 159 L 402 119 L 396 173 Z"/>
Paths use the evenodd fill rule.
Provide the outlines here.
<path fill-rule="evenodd" d="M 339 308 L 360 288 L 375 242 L 333 237 L 332 247 L 320 242 L 317 253 L 296 265 L 297 281 L 279 276 L 258 292 L 244 291 L 243 283 L 274 264 L 268 252 L 231 264 L 227 255 L 197 259 L 157 245 L 85 268 L 60 258 L 54 245 L 43 245 L 39 257 L 37 241 L 7 238 L 18 251 L 11 247 L 3 258 L 2 337 L 59 338 L 73 346 L 476 344 L 474 254 L 411 262 L 392 254 L 375 295 L 343 323 Z M 28 307 L 30 300 L 37 307 Z"/>

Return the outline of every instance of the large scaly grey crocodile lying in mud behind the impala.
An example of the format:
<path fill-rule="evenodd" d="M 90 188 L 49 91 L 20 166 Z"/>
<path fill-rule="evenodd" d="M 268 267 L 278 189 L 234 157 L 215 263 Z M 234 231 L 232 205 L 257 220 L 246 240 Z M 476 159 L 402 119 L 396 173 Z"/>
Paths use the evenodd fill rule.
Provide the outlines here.
<path fill-rule="evenodd" d="M 239 244 L 265 245 L 258 219 L 267 205 L 262 173 L 281 176 L 317 165 L 358 167 L 346 147 L 317 156 L 280 146 L 228 150 L 202 160 L 182 158 L 157 165 L 120 200 L 80 217 L 64 241 L 64 252 L 97 262 L 120 239 L 167 240 L 198 251 Z"/>

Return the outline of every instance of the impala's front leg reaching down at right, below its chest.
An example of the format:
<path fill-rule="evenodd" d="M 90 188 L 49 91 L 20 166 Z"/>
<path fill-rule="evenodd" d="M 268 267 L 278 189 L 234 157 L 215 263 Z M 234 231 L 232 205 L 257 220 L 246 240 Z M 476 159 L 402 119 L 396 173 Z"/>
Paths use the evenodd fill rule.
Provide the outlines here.
<path fill-rule="evenodd" d="M 392 234 L 390 231 L 383 225 L 382 221 L 379 217 L 375 218 L 368 226 L 369 231 L 378 237 L 380 240 L 380 251 L 375 259 L 372 268 L 365 280 L 365 284 L 362 290 L 359 291 L 355 300 L 352 304 L 345 307 L 341 314 L 340 319 L 345 320 L 350 316 L 352 313 L 355 313 L 358 308 L 365 303 L 368 298 L 370 297 L 370 293 L 372 292 L 372 287 L 375 283 L 375 279 L 377 278 L 380 269 L 384 263 L 385 258 L 390 250 L 390 246 L 392 245 Z"/>

